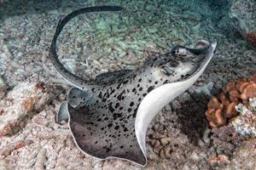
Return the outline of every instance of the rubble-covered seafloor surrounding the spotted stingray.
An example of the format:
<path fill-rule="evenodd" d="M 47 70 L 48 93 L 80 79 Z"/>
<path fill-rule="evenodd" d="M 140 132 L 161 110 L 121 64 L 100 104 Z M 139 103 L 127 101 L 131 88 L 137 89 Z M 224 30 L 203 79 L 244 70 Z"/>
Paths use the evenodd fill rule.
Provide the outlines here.
<path fill-rule="evenodd" d="M 21 82 L 44 82 L 52 90 L 43 110 L 34 111 L 17 133 L 0 138 L 0 169 L 255 168 L 255 148 L 250 150 L 255 140 L 237 144 L 219 139 L 207 125 L 210 96 L 218 94 L 225 82 L 256 71 L 256 51 L 230 22 L 220 20 L 229 18 L 229 6 L 218 2 L 0 1 L 0 75 L 9 91 Z M 59 38 L 61 62 L 80 77 L 135 68 L 148 55 L 165 53 L 174 44 L 193 46 L 200 39 L 218 42 L 201 78 L 167 105 L 148 128 L 146 167 L 84 155 L 73 143 L 67 123 L 59 125 L 54 120 L 70 88 L 47 59 L 55 26 L 74 9 L 102 4 L 120 5 L 125 10 L 80 15 L 67 24 Z M 22 147 L 14 149 L 20 141 Z M 4 151 L 6 148 L 13 149 Z M 227 156 L 228 161 L 209 162 L 218 155 Z"/>

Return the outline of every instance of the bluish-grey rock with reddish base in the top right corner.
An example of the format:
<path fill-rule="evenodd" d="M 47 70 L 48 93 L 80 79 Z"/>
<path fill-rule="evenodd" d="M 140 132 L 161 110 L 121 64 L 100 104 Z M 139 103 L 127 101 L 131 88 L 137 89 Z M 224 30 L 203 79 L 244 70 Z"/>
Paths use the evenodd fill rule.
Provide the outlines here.
<path fill-rule="evenodd" d="M 230 17 L 239 21 L 239 31 L 256 48 L 255 0 L 230 0 Z"/>

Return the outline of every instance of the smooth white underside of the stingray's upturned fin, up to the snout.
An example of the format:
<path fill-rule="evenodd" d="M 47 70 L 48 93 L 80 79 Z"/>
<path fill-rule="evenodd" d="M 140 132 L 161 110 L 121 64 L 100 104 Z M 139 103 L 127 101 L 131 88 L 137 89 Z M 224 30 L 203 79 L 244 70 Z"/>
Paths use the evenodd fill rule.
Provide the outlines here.
<path fill-rule="evenodd" d="M 212 59 L 215 48 L 216 42 L 209 44 L 209 46 L 207 47 L 207 53 L 205 52 L 205 49 L 192 49 L 198 54 L 206 55 L 202 65 L 199 66 L 198 71 L 195 71 L 195 74 L 192 77 L 189 77 L 188 79 L 185 79 L 183 81 L 171 82 L 160 86 L 159 88 L 155 88 L 145 96 L 145 98 L 139 105 L 137 110 L 137 116 L 135 119 L 135 133 L 137 141 L 141 149 L 143 150 L 144 155 L 146 155 L 145 139 L 150 122 L 165 105 L 170 103 L 178 95 L 183 94 L 185 90 L 187 90 L 190 86 L 192 86 L 192 84 L 194 84 L 194 82 L 201 76 L 203 71 L 205 71 L 207 65 Z"/>

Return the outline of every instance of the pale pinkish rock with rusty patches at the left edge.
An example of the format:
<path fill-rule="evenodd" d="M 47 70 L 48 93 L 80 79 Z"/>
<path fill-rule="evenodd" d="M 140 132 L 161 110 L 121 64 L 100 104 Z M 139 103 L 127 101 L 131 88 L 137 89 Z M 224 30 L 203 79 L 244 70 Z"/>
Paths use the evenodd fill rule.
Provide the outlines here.
<path fill-rule="evenodd" d="M 53 93 L 42 82 L 20 83 L 13 88 L 0 103 L 0 137 L 18 132 L 52 97 Z"/>

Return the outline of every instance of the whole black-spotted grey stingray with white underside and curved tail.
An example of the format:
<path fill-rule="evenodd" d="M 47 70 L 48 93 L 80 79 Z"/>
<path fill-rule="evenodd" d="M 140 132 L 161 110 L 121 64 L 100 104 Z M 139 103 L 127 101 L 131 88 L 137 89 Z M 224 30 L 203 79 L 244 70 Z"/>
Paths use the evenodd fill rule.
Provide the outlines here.
<path fill-rule="evenodd" d="M 197 48 L 180 45 L 146 59 L 135 70 L 103 73 L 95 80 L 75 76 L 61 65 L 56 41 L 68 20 L 88 12 L 119 11 L 115 6 L 81 8 L 60 20 L 51 42 L 49 60 L 74 88 L 61 103 L 56 122 L 68 119 L 79 149 L 100 159 L 115 157 L 144 166 L 145 136 L 159 111 L 201 76 L 216 43 L 201 41 Z M 203 45 L 202 45 L 203 44 Z"/>

